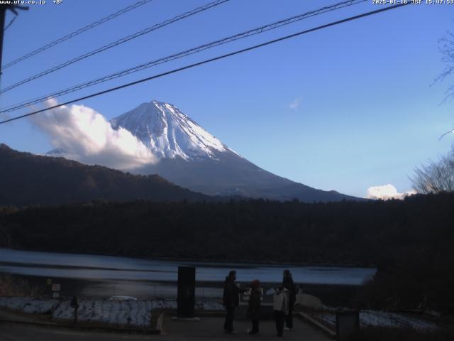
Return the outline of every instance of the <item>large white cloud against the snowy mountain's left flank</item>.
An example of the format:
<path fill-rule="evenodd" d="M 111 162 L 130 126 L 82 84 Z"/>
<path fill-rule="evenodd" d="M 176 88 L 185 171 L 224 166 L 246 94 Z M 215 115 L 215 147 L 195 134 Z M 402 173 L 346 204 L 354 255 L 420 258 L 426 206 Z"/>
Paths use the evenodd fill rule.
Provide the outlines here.
<path fill-rule="evenodd" d="M 113 129 L 104 116 L 83 105 L 51 109 L 31 121 L 50 137 L 55 148 L 65 151 L 65 158 L 122 171 L 157 162 L 150 149 L 133 134 L 123 128 Z"/>

